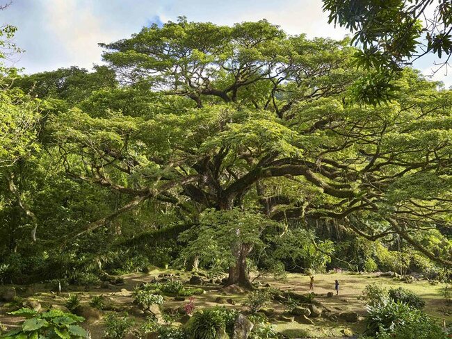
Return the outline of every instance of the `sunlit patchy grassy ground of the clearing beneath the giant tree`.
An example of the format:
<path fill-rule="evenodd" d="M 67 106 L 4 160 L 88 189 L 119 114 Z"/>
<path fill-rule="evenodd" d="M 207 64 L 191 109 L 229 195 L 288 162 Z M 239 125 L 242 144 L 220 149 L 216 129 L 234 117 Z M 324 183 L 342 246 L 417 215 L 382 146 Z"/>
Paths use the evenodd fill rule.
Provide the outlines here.
<path fill-rule="evenodd" d="M 100 288 L 92 288 L 90 290 L 84 290 L 83 288 L 70 288 L 65 290 L 62 295 L 57 296 L 54 293 L 46 290 L 45 286 L 34 285 L 28 288 L 20 287 L 22 290 L 20 294 L 23 297 L 29 297 L 41 302 L 43 307 L 49 307 L 52 304 L 64 304 L 65 298 L 69 293 L 78 293 L 82 299 L 83 304 L 88 304 L 90 299 L 94 295 L 104 295 L 108 298 L 110 304 L 113 304 L 118 310 L 127 310 L 131 306 L 132 298 L 131 291 L 140 283 L 151 281 L 155 276 L 161 273 L 177 273 L 172 270 L 154 270 L 149 274 L 128 274 L 124 276 L 124 285 L 115 286 L 109 290 L 103 290 Z M 187 281 L 191 274 L 187 272 L 179 272 L 181 274 L 177 279 L 181 281 Z M 327 292 L 334 291 L 334 280 L 339 280 L 340 293 L 339 296 L 334 295 L 332 298 L 327 298 Z M 289 274 L 286 281 L 276 281 L 274 279 L 258 279 L 261 283 L 270 283 L 272 287 L 279 288 L 281 290 L 293 290 L 294 292 L 308 293 L 309 292 L 309 276 L 301 274 Z M 444 315 L 442 309 L 446 307 L 444 299 L 442 298 L 441 288 L 442 286 L 430 285 L 427 281 L 416 281 L 414 283 L 403 283 L 401 281 L 395 281 L 392 278 L 378 277 L 376 274 L 316 274 L 315 276 L 314 292 L 317 297 L 316 300 L 320 301 L 325 307 L 330 308 L 334 312 L 340 311 L 355 311 L 361 317 L 364 317 L 366 308 L 365 303 L 359 297 L 362 295 L 362 290 L 369 283 L 378 283 L 380 286 L 387 288 L 397 288 L 399 286 L 412 290 L 417 295 L 422 297 L 426 301 L 425 311 L 429 315 L 435 317 L 439 321 L 446 321 L 446 324 L 452 324 L 452 316 Z M 125 288 L 127 292 L 121 289 Z M 234 306 L 230 304 L 222 304 L 222 306 L 233 307 L 243 310 L 241 302 L 243 301 L 243 294 L 236 295 L 224 295 L 219 289 L 218 285 L 204 285 L 202 286 L 206 293 L 204 295 L 195 296 L 196 310 L 202 308 L 208 308 L 218 306 L 215 301 L 217 297 L 223 299 L 232 298 L 236 302 Z M 164 308 L 175 309 L 181 305 L 184 305 L 186 301 L 175 301 L 173 298 L 166 297 Z M 6 304 L 0 305 L 0 323 L 6 324 L 8 327 L 17 325 L 20 321 L 17 317 L 11 317 L 6 315 L 8 307 Z M 284 306 L 281 304 L 269 305 L 277 311 L 283 311 Z M 450 309 L 450 306 L 449 306 Z M 361 318 L 363 319 L 363 318 Z M 314 325 L 298 324 L 298 322 L 277 322 L 275 328 L 290 338 L 339 338 L 342 336 L 341 331 L 348 329 L 353 333 L 362 333 L 364 331 L 364 323 L 362 321 L 356 324 L 348 324 L 346 322 L 330 322 L 323 318 L 313 318 Z M 138 322 L 143 321 L 138 319 Z M 102 336 L 102 323 L 87 325 L 88 329 L 92 332 L 92 338 L 103 338 Z"/>

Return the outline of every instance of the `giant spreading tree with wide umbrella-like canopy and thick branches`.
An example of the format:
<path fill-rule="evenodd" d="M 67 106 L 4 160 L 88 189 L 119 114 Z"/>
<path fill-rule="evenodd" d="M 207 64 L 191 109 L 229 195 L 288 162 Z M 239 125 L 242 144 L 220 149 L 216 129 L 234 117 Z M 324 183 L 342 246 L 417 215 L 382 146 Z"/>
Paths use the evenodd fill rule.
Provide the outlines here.
<path fill-rule="evenodd" d="M 186 19 L 104 45 L 122 87 L 58 115 L 52 140 L 70 177 L 129 201 L 63 242 L 159 201 L 192 221 L 234 207 L 335 220 L 371 240 L 398 234 L 451 265 L 413 235 L 451 226 L 452 94 L 406 69 L 397 101 L 353 104 L 350 84 L 362 74 L 347 45 L 287 36 L 266 21 Z M 119 108 L 114 98 L 130 93 L 140 104 Z M 242 249 L 228 283 L 249 286 L 236 274 L 246 271 Z"/>

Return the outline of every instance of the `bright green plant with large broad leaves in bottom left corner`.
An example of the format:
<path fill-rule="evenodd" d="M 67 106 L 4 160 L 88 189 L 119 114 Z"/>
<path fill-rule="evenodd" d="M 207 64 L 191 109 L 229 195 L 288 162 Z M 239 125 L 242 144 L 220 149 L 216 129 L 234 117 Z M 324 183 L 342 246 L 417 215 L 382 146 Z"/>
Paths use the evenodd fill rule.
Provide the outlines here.
<path fill-rule="evenodd" d="M 37 313 L 29 308 L 21 308 L 19 311 L 8 314 L 26 317 L 26 320 L 22 323 L 21 328 L 10 331 L 1 338 L 88 338 L 88 333 L 76 324 L 83 322 L 83 317 L 72 313 L 64 313 L 59 310 Z"/>

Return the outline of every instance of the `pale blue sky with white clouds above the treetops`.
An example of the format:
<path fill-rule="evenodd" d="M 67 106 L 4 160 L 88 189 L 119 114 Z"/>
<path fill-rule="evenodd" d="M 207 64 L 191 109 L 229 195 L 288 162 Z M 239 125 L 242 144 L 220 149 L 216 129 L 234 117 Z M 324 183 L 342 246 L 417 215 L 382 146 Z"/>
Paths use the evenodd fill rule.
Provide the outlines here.
<path fill-rule="evenodd" d="M 6 3 L 0 0 L 0 3 Z M 13 0 L 0 12 L 1 24 L 17 26 L 14 42 L 24 49 L 15 67 L 24 73 L 72 65 L 91 69 L 102 64 L 99 42 L 128 38 L 143 26 L 175 21 L 234 24 L 268 19 L 289 34 L 341 39 L 348 33 L 328 24 L 321 0 Z M 435 58 L 421 58 L 415 67 L 433 74 Z M 445 68 L 445 67 L 444 67 Z M 434 80 L 452 86 L 452 69 L 439 70 Z"/>

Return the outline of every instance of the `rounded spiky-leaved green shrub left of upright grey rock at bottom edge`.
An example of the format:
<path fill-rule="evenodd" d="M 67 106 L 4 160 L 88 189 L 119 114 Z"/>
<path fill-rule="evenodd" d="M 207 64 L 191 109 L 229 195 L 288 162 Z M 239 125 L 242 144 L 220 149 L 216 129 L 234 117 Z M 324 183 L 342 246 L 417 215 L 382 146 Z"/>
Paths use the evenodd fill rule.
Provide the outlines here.
<path fill-rule="evenodd" d="M 216 339 L 225 336 L 226 324 L 216 310 L 197 311 L 187 326 L 191 339 Z"/>

